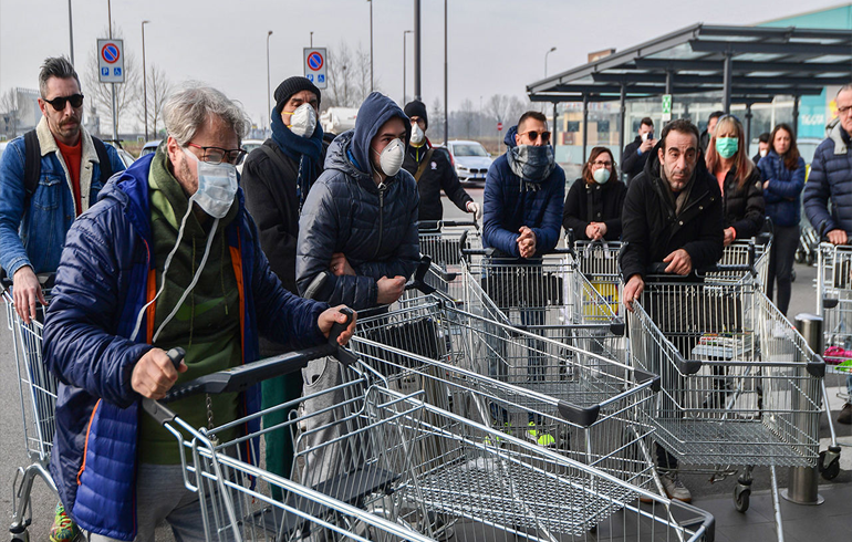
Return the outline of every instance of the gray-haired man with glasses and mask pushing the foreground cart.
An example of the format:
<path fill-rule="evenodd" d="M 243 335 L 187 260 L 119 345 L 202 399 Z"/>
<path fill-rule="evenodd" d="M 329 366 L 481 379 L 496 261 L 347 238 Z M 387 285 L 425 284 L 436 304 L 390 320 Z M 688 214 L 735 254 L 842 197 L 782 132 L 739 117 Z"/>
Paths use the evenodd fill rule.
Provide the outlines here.
<path fill-rule="evenodd" d="M 44 359 L 61 383 L 51 475 L 90 540 L 153 541 L 159 521 L 177 540 L 205 540 L 175 437 L 139 411 L 139 400 L 256 361 L 260 334 L 301 348 L 346 320 L 342 305 L 288 292 L 260 250 L 237 186 L 241 108 L 191 86 L 168 98 L 164 118 L 168 138 L 71 227 L 44 324 Z M 186 351 L 177 368 L 166 354 L 174 347 Z M 207 427 L 259 405 L 253 386 L 169 408 Z M 239 424 L 233 437 L 258 426 Z M 253 461 L 256 451 L 247 446 L 241 458 Z"/>

